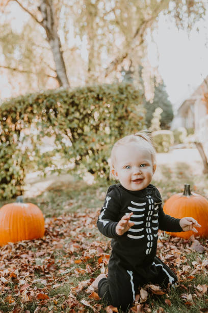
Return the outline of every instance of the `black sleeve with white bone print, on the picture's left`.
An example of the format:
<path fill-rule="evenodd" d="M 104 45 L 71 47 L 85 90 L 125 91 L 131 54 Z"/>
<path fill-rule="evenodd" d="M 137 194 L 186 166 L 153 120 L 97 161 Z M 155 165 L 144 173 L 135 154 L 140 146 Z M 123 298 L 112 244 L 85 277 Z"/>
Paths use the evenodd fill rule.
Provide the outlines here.
<path fill-rule="evenodd" d="M 118 238 L 121 236 L 116 234 L 115 229 L 119 221 L 121 195 L 118 190 L 112 187 L 109 188 L 104 205 L 100 211 L 97 228 L 106 237 Z"/>

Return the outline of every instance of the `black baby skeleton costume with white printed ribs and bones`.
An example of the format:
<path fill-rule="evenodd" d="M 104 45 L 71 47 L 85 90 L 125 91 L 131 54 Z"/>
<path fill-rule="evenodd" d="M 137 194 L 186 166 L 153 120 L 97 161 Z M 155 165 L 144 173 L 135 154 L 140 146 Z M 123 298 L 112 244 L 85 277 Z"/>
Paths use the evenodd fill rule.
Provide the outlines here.
<path fill-rule="evenodd" d="M 133 212 L 135 223 L 126 233 L 116 234 L 123 215 Z M 104 206 L 97 220 L 99 231 L 113 238 L 108 278 L 98 283 L 103 301 L 126 310 L 133 303 L 139 286 L 175 283 L 176 275 L 157 256 L 158 230 L 181 232 L 180 219 L 166 215 L 160 192 L 153 185 L 130 191 L 121 184 L 109 187 Z"/>

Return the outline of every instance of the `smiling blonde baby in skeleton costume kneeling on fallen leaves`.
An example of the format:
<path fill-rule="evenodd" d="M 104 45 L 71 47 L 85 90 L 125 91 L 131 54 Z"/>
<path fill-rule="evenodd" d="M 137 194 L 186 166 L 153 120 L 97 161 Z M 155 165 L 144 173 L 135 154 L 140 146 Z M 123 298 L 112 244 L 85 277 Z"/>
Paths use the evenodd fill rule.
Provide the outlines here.
<path fill-rule="evenodd" d="M 92 288 L 103 301 L 126 310 L 139 286 L 167 287 L 176 275 L 157 256 L 158 230 L 181 232 L 200 227 L 192 217 L 181 219 L 163 212 L 162 199 L 150 184 L 156 169 L 155 151 L 143 133 L 117 141 L 111 152 L 111 173 L 119 184 L 109 187 L 97 221 L 99 231 L 113 238 L 108 277 L 100 274 Z"/>

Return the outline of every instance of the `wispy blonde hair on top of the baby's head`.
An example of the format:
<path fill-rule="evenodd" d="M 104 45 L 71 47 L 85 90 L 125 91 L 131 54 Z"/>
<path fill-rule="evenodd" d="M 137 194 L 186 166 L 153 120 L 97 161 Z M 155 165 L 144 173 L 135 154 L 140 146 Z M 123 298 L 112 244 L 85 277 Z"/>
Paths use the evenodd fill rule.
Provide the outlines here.
<path fill-rule="evenodd" d="M 111 150 L 111 162 L 110 162 L 110 177 L 115 178 L 115 176 L 112 173 L 112 170 L 115 169 L 115 163 L 116 163 L 116 149 L 119 146 L 126 145 L 129 143 L 139 143 L 143 145 L 143 147 L 151 154 L 152 158 L 152 164 L 156 164 L 156 157 L 155 157 L 155 150 L 152 145 L 149 133 L 147 131 L 139 131 L 134 133 L 134 135 L 128 135 L 121 139 L 119 139 L 113 146 Z"/>

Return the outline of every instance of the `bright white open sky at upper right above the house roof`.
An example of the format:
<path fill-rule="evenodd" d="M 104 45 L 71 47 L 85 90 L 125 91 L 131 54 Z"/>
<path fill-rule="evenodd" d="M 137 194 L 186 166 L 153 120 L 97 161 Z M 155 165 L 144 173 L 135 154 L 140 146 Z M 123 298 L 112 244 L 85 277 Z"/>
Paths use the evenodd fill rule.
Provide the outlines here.
<path fill-rule="evenodd" d="M 206 16 L 188 36 L 186 31 L 176 28 L 173 20 L 161 14 L 159 27 L 153 32 L 155 43 L 149 44 L 149 59 L 153 66 L 159 66 L 174 107 L 189 97 L 208 75 L 207 22 Z"/>

